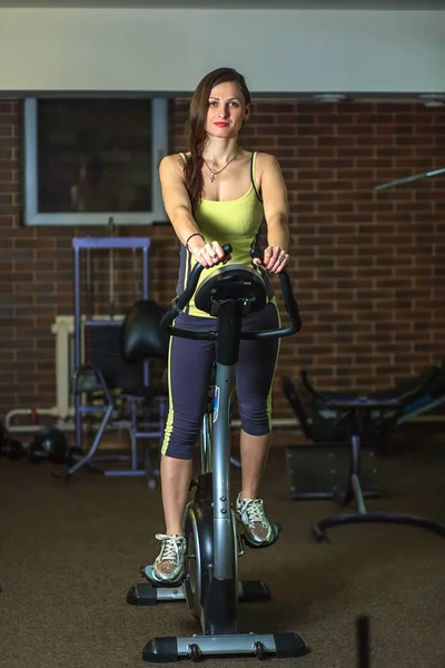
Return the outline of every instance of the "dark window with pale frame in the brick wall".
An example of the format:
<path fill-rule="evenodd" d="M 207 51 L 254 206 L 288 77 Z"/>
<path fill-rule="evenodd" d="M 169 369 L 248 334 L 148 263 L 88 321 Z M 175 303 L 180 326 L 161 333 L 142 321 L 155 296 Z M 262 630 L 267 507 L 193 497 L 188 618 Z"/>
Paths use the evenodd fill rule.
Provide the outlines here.
<path fill-rule="evenodd" d="M 24 100 L 26 225 L 165 222 L 158 166 L 167 100 Z"/>

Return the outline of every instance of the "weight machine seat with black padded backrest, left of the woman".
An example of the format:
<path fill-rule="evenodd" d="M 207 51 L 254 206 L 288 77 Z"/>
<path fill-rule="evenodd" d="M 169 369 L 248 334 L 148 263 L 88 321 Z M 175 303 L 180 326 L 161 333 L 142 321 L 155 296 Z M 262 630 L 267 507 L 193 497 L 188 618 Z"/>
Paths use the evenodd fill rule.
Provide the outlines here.
<path fill-rule="evenodd" d="M 166 386 L 148 383 L 146 364 L 149 360 L 167 361 L 168 335 L 159 323 L 164 308 L 151 299 L 139 299 L 122 322 L 97 323 L 91 327 L 93 363 L 81 364 L 75 370 L 72 393 L 86 396 L 78 402 L 78 418 L 92 414 L 99 420 L 95 439 L 88 452 L 71 452 L 65 478 L 68 480 L 79 469 L 87 466 L 108 477 L 139 475 L 147 478 L 154 489 L 159 469 L 151 456 L 149 441 L 158 441 L 160 452 L 168 411 Z M 118 390 L 115 394 L 112 390 Z M 105 431 L 111 426 L 126 429 L 130 436 L 130 453 L 98 455 L 97 451 Z M 140 453 L 140 442 L 144 452 Z M 123 461 L 123 468 L 102 469 L 98 462 Z"/>

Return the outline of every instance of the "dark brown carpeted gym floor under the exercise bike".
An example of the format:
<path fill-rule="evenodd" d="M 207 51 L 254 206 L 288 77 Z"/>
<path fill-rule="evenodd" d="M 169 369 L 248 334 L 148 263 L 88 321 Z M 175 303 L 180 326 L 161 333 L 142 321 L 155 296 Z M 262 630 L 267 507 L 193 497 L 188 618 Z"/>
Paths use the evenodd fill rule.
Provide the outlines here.
<path fill-rule="evenodd" d="M 445 521 L 443 442 L 424 435 L 422 450 L 380 458 L 383 497 L 369 509 Z M 145 665 L 141 650 L 151 637 L 199 633 L 182 602 L 126 603 L 139 567 L 157 553 L 159 492 L 141 479 L 88 471 L 66 484 L 52 470 L 0 460 L 2 667 L 136 668 Z M 444 668 L 445 540 L 423 529 L 370 524 L 333 529 L 333 542 L 317 544 L 312 523 L 337 509 L 330 501 L 291 501 L 286 475 L 285 450 L 276 448 L 264 497 L 284 531 L 276 546 L 247 551 L 240 561 L 241 577 L 264 579 L 273 599 L 240 605 L 240 630 L 300 633 L 312 652 L 275 660 L 283 668 L 355 668 L 355 619 L 369 615 L 373 667 Z M 233 480 L 236 492 L 239 471 Z M 254 666 L 257 659 L 205 665 Z"/>

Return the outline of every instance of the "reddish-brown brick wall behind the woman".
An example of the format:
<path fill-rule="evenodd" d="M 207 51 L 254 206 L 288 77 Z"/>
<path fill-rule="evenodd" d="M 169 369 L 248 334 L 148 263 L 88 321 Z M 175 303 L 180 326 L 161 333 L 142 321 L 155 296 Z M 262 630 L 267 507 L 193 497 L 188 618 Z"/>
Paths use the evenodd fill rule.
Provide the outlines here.
<path fill-rule="evenodd" d="M 184 148 L 186 114 L 187 101 L 171 104 L 172 150 Z M 0 99 L 0 415 L 55 404 L 50 326 L 56 314 L 72 313 L 71 237 L 105 234 L 20 226 L 20 102 Z M 277 379 L 305 366 L 320 387 L 372 390 L 442 360 L 445 177 L 379 194 L 373 187 L 445 167 L 445 112 L 264 100 L 244 143 L 279 158 L 289 190 L 290 274 L 304 328 L 284 342 Z M 120 232 L 147 233 L 151 294 L 168 303 L 178 252 L 170 227 Z M 106 263 L 97 263 L 105 278 Z M 119 311 L 132 299 L 132 279 L 125 258 L 117 271 Z M 100 312 L 107 295 L 97 292 Z M 290 416 L 279 382 L 275 415 Z"/>

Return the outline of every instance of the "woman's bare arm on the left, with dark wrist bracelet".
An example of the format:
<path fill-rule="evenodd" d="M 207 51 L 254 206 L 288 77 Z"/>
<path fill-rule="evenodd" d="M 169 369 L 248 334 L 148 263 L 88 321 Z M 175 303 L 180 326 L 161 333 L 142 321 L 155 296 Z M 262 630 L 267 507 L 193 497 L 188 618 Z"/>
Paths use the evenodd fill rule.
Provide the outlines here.
<path fill-rule="evenodd" d="M 214 266 L 225 258 L 217 242 L 206 244 L 192 216 L 190 198 L 184 180 L 184 161 L 179 155 L 166 156 L 159 165 L 162 200 L 176 236 L 202 266 Z M 191 238 L 190 238 L 191 237 Z"/>

